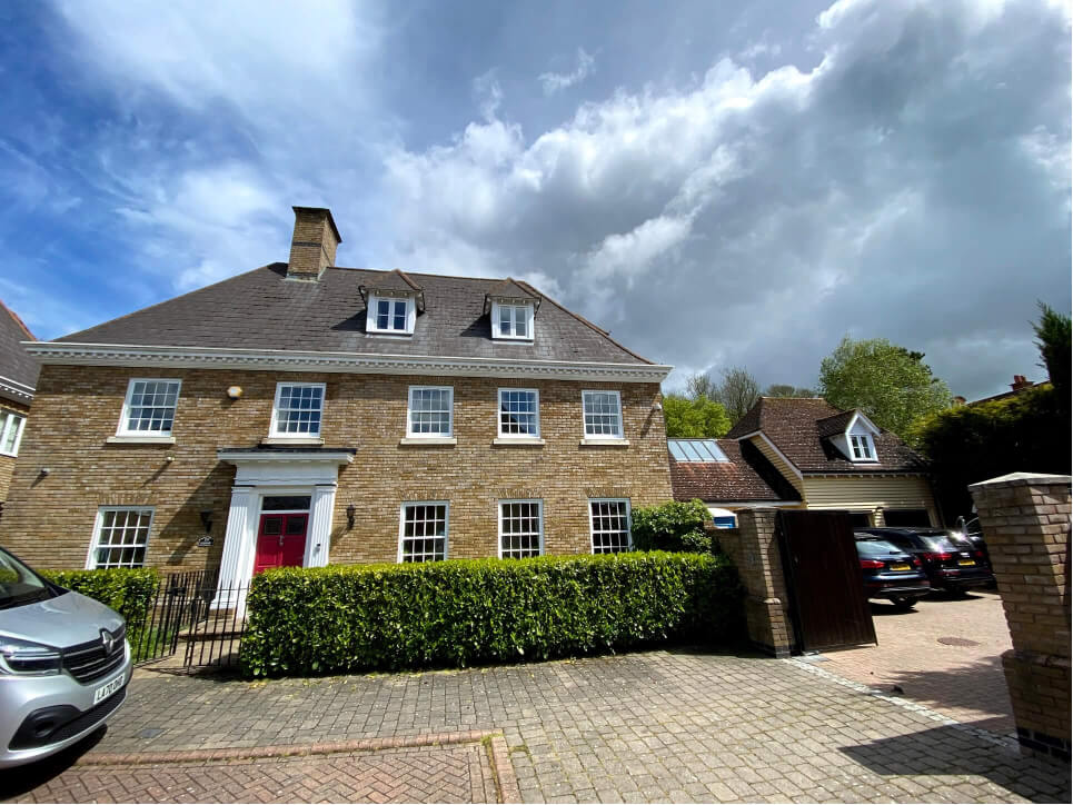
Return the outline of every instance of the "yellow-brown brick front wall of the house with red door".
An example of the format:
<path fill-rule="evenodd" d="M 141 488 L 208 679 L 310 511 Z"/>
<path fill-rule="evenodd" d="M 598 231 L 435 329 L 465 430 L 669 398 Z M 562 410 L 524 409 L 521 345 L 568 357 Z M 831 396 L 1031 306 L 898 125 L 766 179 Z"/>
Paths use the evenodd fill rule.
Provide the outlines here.
<path fill-rule="evenodd" d="M 106 444 L 131 377 L 182 380 L 175 445 Z M 590 549 L 589 497 L 626 497 L 635 507 L 670 499 L 663 415 L 652 410 L 657 384 L 46 366 L 0 544 L 39 567 L 81 567 L 99 506 L 152 505 L 148 564 L 218 565 L 235 467 L 216 451 L 268 436 L 278 380 L 327 384 L 325 445 L 356 449 L 354 463 L 339 470 L 332 563 L 395 561 L 404 500 L 450 501 L 449 549 L 460 558 L 496 555 L 499 498 L 543 498 L 549 554 Z M 244 388 L 241 399 L 227 398 L 232 385 Z M 399 445 L 410 385 L 454 387 L 457 446 Z M 539 389 L 546 445 L 493 446 L 500 387 Z M 622 391 L 628 447 L 579 446 L 583 388 Z M 351 503 L 357 518 L 347 530 Z M 195 545 L 202 509 L 213 513 L 210 548 Z"/>

